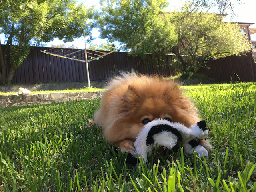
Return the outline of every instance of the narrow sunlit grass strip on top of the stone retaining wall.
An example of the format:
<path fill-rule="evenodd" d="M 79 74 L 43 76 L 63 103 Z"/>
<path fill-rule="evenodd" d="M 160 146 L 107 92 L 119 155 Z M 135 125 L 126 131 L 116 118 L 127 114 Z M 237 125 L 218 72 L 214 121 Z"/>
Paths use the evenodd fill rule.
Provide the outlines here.
<path fill-rule="evenodd" d="M 81 89 L 66 89 L 66 90 L 44 90 L 44 91 L 32 91 L 30 94 L 40 94 L 40 93 L 56 93 L 56 92 L 65 92 L 65 93 L 70 93 L 70 92 L 93 92 L 93 91 L 103 91 L 104 89 L 101 88 L 94 88 L 91 87 L 90 89 L 88 87 L 86 88 L 81 88 Z M 18 91 L 17 91 L 18 92 Z M 16 94 L 17 92 L 1 92 L 0 95 L 11 95 L 11 94 Z"/>

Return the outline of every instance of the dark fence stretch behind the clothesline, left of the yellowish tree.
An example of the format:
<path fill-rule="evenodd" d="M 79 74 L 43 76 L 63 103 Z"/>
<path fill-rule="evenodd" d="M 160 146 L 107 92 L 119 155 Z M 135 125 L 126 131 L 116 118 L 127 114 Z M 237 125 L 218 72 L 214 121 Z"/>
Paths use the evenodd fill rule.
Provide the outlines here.
<path fill-rule="evenodd" d="M 12 83 L 34 84 L 87 81 L 86 64 L 84 62 L 40 52 L 41 50 L 49 49 L 49 52 L 55 54 L 70 54 L 78 51 L 78 49 L 33 47 L 28 58 L 16 70 Z M 88 52 L 91 52 L 91 55 L 95 57 L 93 51 Z M 88 54 L 88 57 L 90 58 L 91 55 Z M 71 54 L 70 57 L 84 59 L 84 50 Z M 163 73 L 166 76 L 174 75 L 173 68 L 170 65 L 168 66 L 174 58 L 176 56 L 167 56 L 166 65 L 163 68 Z M 133 58 L 128 56 L 126 52 L 114 52 L 99 60 L 89 62 L 90 81 L 106 81 L 112 78 L 114 74 L 119 74 L 120 71 L 135 70 L 143 74 L 156 73 L 156 66 L 148 66 L 145 62 L 147 61 L 140 60 L 138 57 Z"/>

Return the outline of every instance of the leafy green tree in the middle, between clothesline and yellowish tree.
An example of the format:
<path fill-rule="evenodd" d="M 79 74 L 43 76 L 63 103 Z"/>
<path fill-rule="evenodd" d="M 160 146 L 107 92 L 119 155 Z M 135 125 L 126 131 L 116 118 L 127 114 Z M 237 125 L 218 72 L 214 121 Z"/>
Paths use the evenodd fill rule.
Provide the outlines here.
<path fill-rule="evenodd" d="M 177 40 L 169 19 L 160 14 L 167 7 L 167 1 L 109 0 L 101 3 L 101 38 L 124 43 L 127 50 L 131 49 L 130 55 L 150 56 L 162 66 L 163 56 L 169 53 L 168 47 Z"/>

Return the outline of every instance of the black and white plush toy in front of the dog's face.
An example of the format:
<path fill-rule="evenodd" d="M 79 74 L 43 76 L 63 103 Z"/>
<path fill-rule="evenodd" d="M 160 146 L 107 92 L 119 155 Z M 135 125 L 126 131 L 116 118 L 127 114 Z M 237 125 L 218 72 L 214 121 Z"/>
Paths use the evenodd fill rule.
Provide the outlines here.
<path fill-rule="evenodd" d="M 203 155 L 208 156 L 208 151 L 200 145 L 200 140 L 205 139 L 207 136 L 208 130 L 206 130 L 205 121 L 200 121 L 188 128 L 180 123 L 156 119 L 146 124 L 140 131 L 134 141 L 134 147 L 138 157 L 143 157 L 146 163 L 147 154 L 152 154 L 156 144 L 157 147 L 172 149 L 179 141 L 186 153 L 191 154 L 194 149 L 202 157 Z"/>

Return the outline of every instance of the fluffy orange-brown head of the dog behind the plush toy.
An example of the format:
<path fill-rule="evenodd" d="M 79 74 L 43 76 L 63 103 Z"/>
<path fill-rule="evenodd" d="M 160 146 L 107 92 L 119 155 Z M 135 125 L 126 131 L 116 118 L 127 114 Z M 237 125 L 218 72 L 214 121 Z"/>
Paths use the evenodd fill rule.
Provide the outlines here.
<path fill-rule="evenodd" d="M 178 84 L 147 76 L 129 82 L 120 114 L 124 117 L 123 124 L 130 125 L 131 139 L 136 138 L 145 124 L 157 118 L 185 126 L 199 121 L 196 108 Z"/>

